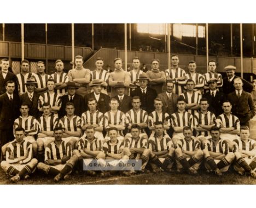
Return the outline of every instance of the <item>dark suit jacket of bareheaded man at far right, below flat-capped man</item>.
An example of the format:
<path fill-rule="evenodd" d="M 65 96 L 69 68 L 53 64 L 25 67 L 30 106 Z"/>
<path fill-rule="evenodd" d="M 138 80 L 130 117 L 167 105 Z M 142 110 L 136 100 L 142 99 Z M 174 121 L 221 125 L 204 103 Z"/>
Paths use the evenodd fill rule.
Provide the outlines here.
<path fill-rule="evenodd" d="M 238 99 L 236 91 L 228 94 L 228 100 L 232 105 L 232 113 L 238 117 L 240 124 L 249 126 L 249 120 L 255 115 L 255 105 L 252 99 L 252 95 L 246 91 L 242 91 L 240 98 Z"/>

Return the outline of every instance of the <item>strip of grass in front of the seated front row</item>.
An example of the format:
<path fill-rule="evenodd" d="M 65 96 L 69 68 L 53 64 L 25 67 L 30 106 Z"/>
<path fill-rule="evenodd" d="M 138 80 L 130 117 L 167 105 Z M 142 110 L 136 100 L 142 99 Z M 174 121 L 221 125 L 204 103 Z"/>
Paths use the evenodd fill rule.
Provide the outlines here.
<path fill-rule="evenodd" d="M 0 170 L 0 184 L 13 184 L 9 181 L 9 176 L 5 175 L 3 170 Z M 240 176 L 234 172 L 224 173 L 223 176 L 218 177 L 213 174 L 199 172 L 198 175 L 187 175 L 177 173 L 160 173 L 160 174 L 136 174 L 130 177 L 115 175 L 107 178 L 100 176 L 91 177 L 86 174 L 73 174 L 71 179 L 58 183 L 53 181 L 53 177 L 46 176 L 42 173 L 35 173 L 31 178 L 24 181 L 21 180 L 15 184 L 24 185 L 39 185 L 39 184 L 62 184 L 62 185 L 88 185 L 88 184 L 238 184 L 251 185 L 256 184 L 256 179 L 248 176 Z"/>

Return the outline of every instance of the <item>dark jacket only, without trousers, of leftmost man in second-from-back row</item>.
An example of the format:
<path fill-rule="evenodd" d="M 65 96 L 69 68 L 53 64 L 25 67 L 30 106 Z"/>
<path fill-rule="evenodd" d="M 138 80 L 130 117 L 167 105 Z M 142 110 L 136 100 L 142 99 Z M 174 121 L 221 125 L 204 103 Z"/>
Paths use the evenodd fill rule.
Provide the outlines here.
<path fill-rule="evenodd" d="M 8 130 L 13 128 L 13 123 L 20 114 L 20 97 L 13 94 L 13 102 L 9 100 L 7 93 L 0 96 L 0 129 Z"/>

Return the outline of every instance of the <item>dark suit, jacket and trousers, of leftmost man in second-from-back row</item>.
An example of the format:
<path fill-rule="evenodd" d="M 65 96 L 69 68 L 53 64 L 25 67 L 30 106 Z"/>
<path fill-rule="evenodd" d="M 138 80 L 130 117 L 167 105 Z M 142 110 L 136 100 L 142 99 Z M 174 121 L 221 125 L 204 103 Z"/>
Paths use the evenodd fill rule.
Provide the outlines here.
<path fill-rule="evenodd" d="M 14 139 L 13 123 L 20 114 L 20 98 L 13 94 L 11 102 L 7 93 L 0 96 L 0 139 L 1 146 Z"/>

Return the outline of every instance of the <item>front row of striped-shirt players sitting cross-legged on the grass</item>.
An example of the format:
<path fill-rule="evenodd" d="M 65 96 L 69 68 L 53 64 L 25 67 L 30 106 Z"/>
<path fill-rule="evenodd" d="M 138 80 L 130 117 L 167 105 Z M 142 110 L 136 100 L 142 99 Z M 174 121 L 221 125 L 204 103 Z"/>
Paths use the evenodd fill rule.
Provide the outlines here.
<path fill-rule="evenodd" d="M 24 129 L 15 129 L 16 139 L 7 147 L 6 160 L 1 162 L 2 169 L 11 177 L 11 181 L 27 179 L 36 168 L 48 175 L 54 176 L 54 181 L 68 179 L 73 169 L 86 172 L 90 175 L 110 175 L 113 172 L 103 171 L 104 167 L 112 167 L 112 170 L 123 170 L 130 160 L 139 161 L 139 172 L 162 171 L 172 172 L 176 163 L 177 172 L 197 174 L 203 162 L 207 172 L 222 175 L 230 164 L 238 174 L 248 174 L 256 178 L 256 142 L 249 139 L 247 126 L 241 127 L 241 137 L 234 141 L 220 138 L 219 128 L 211 128 L 211 138 L 193 137 L 189 126 L 183 128 L 184 138 L 173 143 L 172 139 L 164 133 L 161 122 L 155 123 L 155 134 L 149 139 L 140 136 L 140 127 L 132 125 L 131 137 L 124 142 L 118 140 L 118 130 L 115 127 L 109 129 L 109 137 L 106 143 L 95 137 L 93 126 L 86 129 L 86 137 L 78 141 L 78 149 L 72 150 L 69 142 L 62 140 L 63 129 L 54 129 L 54 142 L 45 148 L 44 162 L 33 158 L 32 143 L 24 140 Z M 95 160 L 92 160 L 95 159 Z M 96 161 L 97 165 L 90 165 Z M 106 162 L 107 161 L 107 162 Z M 110 161 L 110 162 L 109 162 Z M 101 167 L 101 171 L 95 172 L 95 167 Z M 98 170 L 98 169 L 97 169 Z M 137 172 L 130 166 L 124 175 L 132 175 Z"/>

